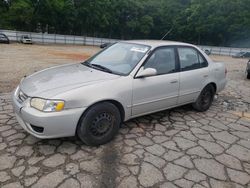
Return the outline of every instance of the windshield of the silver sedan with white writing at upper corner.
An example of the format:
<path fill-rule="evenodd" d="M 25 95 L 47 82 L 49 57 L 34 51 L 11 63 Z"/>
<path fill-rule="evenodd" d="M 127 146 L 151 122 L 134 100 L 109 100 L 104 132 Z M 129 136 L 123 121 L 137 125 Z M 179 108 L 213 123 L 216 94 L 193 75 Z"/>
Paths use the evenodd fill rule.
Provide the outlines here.
<path fill-rule="evenodd" d="M 116 43 L 90 58 L 86 65 L 106 72 L 127 75 L 150 49 L 149 46 Z"/>

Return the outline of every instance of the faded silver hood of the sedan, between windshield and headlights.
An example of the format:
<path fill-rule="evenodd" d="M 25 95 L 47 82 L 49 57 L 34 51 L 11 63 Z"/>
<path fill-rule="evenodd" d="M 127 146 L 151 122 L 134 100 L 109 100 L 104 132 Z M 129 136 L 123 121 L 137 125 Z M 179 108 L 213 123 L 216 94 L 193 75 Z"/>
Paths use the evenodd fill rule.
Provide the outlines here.
<path fill-rule="evenodd" d="M 116 79 L 120 76 L 82 64 L 63 65 L 34 73 L 21 81 L 20 89 L 30 97 L 51 98 L 63 92 Z"/>

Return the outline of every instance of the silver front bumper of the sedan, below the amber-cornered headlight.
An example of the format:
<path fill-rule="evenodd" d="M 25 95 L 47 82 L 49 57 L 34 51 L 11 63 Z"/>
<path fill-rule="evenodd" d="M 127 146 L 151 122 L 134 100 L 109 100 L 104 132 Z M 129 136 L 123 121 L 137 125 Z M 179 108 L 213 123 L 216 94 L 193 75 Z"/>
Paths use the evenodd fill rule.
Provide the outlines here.
<path fill-rule="evenodd" d="M 61 112 L 41 112 L 25 103 L 21 104 L 14 93 L 12 103 L 17 121 L 23 129 L 41 139 L 74 136 L 78 121 L 85 111 L 85 108 L 76 108 Z M 33 126 L 41 127 L 43 131 L 37 132 Z"/>

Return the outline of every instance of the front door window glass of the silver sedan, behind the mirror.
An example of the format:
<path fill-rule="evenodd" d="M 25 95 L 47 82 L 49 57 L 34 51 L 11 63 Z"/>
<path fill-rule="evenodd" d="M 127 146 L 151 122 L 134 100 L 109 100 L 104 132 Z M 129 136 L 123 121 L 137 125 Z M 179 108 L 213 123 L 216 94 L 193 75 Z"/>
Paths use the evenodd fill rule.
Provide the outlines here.
<path fill-rule="evenodd" d="M 158 75 L 176 72 L 174 48 L 157 49 L 147 60 L 144 68 L 154 68 Z"/>

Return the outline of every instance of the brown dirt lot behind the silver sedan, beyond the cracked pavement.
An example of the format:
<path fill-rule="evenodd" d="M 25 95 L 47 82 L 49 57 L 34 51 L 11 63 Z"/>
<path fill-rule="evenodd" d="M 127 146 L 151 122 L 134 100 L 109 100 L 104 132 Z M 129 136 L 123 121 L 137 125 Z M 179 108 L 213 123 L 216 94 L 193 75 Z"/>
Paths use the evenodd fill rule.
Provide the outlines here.
<path fill-rule="evenodd" d="M 25 75 L 47 67 L 81 62 L 99 50 L 93 46 L 0 44 L 0 93 L 12 91 Z M 247 60 L 226 56 L 211 58 L 225 62 L 229 74 L 238 72 L 234 74 L 238 79 L 245 77 Z"/>

